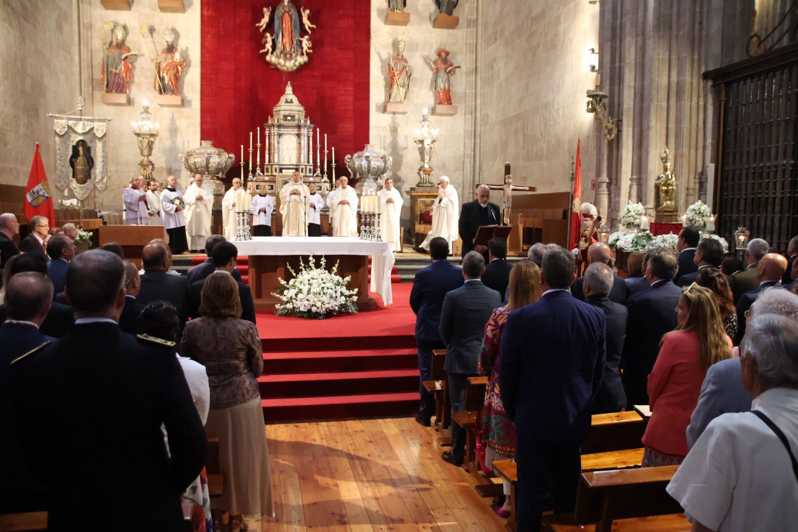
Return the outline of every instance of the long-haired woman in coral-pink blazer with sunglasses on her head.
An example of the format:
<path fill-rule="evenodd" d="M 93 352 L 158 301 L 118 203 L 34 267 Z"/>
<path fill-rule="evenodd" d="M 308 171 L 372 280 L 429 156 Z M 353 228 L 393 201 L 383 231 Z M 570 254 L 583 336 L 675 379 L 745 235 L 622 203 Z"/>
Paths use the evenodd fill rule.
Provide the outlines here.
<path fill-rule="evenodd" d="M 732 354 L 732 341 L 711 290 L 695 283 L 686 287 L 676 314 L 678 325 L 662 337 L 648 378 L 651 418 L 642 439 L 643 467 L 675 465 L 685 459 L 685 431 L 706 370 Z"/>

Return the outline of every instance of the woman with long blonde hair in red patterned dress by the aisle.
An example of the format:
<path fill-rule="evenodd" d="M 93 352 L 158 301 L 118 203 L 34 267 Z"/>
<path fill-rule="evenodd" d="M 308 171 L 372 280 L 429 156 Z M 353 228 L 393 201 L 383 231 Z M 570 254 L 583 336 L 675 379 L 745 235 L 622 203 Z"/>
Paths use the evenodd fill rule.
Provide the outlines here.
<path fill-rule="evenodd" d="M 520 261 L 510 270 L 508 304 L 495 309 L 485 325 L 485 336 L 480 349 L 480 375 L 488 376 L 485 400 L 482 407 L 480 443 L 485 449 L 485 464 L 492 467 L 493 460 L 515 459 L 516 430 L 504 412 L 499 391 L 501 330 L 508 315 L 522 306 L 540 299 L 540 269 L 531 261 Z M 494 506 L 500 517 L 510 514 L 510 485 L 504 482 L 504 506 Z"/>

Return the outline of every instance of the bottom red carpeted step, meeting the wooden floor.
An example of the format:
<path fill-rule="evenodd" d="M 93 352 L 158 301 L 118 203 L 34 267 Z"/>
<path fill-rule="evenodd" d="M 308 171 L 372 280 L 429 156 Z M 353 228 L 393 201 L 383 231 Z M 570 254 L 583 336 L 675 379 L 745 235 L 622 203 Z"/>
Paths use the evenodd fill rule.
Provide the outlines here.
<path fill-rule="evenodd" d="M 418 392 L 263 399 L 260 404 L 266 423 L 409 416 L 418 412 Z"/>

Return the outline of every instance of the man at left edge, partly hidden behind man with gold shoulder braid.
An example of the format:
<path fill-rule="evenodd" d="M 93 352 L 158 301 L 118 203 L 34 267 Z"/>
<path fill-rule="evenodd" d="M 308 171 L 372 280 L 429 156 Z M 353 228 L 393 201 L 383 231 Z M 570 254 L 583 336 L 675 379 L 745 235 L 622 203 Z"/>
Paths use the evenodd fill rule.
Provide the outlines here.
<path fill-rule="evenodd" d="M 53 283 L 38 272 L 10 278 L 6 321 L 0 327 L 0 514 L 44 510 L 41 487 L 26 465 L 11 408 L 10 364 L 53 341 L 39 332 L 53 299 Z"/>

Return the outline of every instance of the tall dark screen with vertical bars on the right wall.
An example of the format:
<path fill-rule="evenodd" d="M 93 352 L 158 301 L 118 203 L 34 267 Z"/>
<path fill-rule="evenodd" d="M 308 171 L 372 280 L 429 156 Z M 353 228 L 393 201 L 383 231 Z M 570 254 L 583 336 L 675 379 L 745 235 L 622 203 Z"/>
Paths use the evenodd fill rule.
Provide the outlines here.
<path fill-rule="evenodd" d="M 719 96 L 717 233 L 785 250 L 798 234 L 798 45 L 709 71 Z"/>

